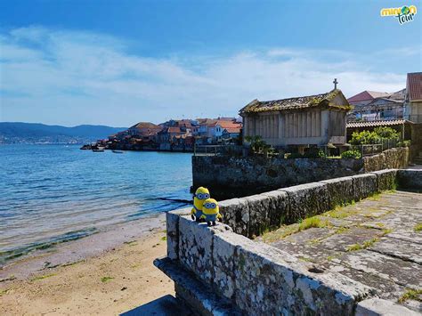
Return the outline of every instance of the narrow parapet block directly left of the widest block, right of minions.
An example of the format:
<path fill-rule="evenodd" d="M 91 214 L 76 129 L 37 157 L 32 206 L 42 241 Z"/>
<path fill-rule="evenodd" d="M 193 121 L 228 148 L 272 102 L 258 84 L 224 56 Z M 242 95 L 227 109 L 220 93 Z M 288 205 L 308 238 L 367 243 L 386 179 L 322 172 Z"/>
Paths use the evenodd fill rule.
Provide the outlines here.
<path fill-rule="evenodd" d="M 288 193 L 283 190 L 272 190 L 262 195 L 270 199 L 268 207 L 270 228 L 279 228 L 288 215 Z"/>

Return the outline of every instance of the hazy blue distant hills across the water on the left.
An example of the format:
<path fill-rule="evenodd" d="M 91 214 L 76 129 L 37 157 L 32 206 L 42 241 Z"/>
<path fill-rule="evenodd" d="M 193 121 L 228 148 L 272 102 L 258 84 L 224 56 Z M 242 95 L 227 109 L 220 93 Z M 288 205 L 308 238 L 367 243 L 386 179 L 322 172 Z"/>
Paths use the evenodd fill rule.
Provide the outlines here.
<path fill-rule="evenodd" d="M 126 127 L 110 126 L 47 126 L 37 123 L 0 122 L 0 142 L 35 143 L 66 142 L 84 143 L 107 138 L 110 134 L 126 130 Z"/>

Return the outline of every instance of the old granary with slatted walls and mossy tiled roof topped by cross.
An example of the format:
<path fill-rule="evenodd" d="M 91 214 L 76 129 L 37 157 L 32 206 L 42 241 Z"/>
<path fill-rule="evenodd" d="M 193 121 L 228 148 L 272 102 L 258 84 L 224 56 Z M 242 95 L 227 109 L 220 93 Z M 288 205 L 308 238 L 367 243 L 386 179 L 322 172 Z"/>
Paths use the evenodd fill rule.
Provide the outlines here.
<path fill-rule="evenodd" d="M 350 109 L 345 95 L 334 89 L 297 98 L 254 100 L 239 114 L 244 136 L 261 136 L 274 147 L 293 145 L 301 150 L 312 145 L 345 144 L 346 113 Z"/>

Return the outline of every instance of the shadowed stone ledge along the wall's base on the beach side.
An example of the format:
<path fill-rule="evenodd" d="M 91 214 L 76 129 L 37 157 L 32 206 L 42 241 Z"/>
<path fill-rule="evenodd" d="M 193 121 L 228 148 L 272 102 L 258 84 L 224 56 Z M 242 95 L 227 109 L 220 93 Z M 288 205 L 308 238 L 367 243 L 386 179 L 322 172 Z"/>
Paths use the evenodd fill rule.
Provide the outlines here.
<path fill-rule="evenodd" d="M 174 280 L 176 297 L 187 305 L 193 314 L 240 315 L 230 301 L 215 295 L 211 288 L 195 279 L 191 272 L 184 270 L 177 262 L 162 258 L 154 260 L 154 265 Z"/>

